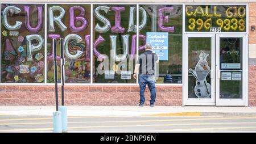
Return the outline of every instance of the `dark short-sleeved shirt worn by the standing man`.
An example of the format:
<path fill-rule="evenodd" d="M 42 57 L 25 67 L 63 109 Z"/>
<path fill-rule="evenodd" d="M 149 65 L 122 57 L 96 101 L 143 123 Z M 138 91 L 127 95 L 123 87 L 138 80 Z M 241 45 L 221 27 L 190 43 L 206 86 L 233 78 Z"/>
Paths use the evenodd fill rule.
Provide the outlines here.
<path fill-rule="evenodd" d="M 139 74 L 154 74 L 156 61 L 158 61 L 158 56 L 150 50 L 140 54 L 137 61 L 140 64 Z"/>

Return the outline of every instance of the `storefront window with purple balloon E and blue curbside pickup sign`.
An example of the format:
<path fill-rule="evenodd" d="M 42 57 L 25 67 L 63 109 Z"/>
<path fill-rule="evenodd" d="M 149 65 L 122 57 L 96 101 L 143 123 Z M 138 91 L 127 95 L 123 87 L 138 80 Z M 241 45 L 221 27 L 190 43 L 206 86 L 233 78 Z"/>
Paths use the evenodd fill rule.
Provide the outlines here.
<path fill-rule="evenodd" d="M 159 57 L 159 77 L 156 83 L 181 83 L 182 80 L 182 5 L 139 5 L 139 53 L 144 52 L 148 32 L 162 36 L 167 33 L 167 45 L 152 45 Z M 143 23 L 146 19 L 146 24 Z M 148 37 L 147 37 L 148 35 Z M 151 35 L 152 36 L 152 35 Z M 161 44 L 158 39 L 155 40 Z M 148 41 L 147 43 L 150 43 Z"/>

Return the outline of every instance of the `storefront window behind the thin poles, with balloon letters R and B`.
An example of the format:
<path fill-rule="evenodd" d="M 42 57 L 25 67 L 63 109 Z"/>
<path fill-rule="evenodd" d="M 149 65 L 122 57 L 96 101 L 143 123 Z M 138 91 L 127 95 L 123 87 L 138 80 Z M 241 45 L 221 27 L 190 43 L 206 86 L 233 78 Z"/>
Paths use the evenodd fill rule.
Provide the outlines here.
<path fill-rule="evenodd" d="M 47 83 L 54 82 L 53 45 L 64 39 L 65 83 L 90 83 L 90 5 L 47 5 Z"/>

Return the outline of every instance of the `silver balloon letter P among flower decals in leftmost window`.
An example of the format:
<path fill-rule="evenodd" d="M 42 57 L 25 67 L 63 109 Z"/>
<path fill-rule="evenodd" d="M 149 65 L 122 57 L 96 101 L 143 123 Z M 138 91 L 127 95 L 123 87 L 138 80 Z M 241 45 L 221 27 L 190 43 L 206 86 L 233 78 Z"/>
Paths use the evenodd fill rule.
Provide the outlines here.
<path fill-rule="evenodd" d="M 32 52 L 36 52 L 42 49 L 44 40 L 42 36 L 39 35 L 27 35 L 27 61 L 32 61 Z M 32 40 L 36 40 L 38 44 L 32 44 Z"/>

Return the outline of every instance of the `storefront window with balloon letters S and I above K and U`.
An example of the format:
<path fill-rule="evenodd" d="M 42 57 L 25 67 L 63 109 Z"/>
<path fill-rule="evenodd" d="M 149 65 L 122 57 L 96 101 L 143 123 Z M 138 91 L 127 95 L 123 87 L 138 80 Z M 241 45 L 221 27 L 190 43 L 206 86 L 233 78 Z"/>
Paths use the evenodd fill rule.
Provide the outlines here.
<path fill-rule="evenodd" d="M 136 83 L 136 5 L 93 5 L 93 83 Z"/>

